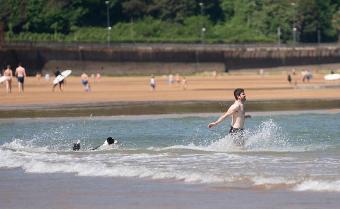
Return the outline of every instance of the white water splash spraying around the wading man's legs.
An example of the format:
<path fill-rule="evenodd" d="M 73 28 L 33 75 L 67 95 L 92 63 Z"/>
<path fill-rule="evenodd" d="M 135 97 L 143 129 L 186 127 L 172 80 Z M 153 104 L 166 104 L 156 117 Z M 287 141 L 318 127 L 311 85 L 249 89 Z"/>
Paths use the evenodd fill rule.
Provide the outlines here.
<path fill-rule="evenodd" d="M 296 140 L 294 136 L 285 132 L 282 127 L 275 124 L 273 119 L 261 122 L 254 130 L 245 130 L 243 137 L 245 145 L 243 148 L 235 145 L 234 137 L 226 135 L 217 141 L 209 140 L 195 145 L 175 145 L 165 148 L 149 148 L 151 150 L 169 150 L 169 149 L 193 149 L 202 151 L 216 151 L 216 152 L 291 152 L 291 151 L 312 151 L 316 149 L 326 149 L 324 145 L 318 145 L 317 142 L 310 140 Z"/>

